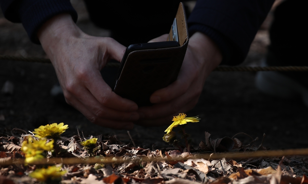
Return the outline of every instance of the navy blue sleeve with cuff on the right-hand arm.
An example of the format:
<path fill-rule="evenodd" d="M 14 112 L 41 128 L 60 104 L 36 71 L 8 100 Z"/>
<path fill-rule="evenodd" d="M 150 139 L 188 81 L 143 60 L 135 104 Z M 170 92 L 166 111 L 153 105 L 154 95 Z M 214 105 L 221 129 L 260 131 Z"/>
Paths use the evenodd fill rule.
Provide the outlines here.
<path fill-rule="evenodd" d="M 198 0 L 188 18 L 189 34 L 208 35 L 221 49 L 221 64 L 244 61 L 274 0 Z"/>

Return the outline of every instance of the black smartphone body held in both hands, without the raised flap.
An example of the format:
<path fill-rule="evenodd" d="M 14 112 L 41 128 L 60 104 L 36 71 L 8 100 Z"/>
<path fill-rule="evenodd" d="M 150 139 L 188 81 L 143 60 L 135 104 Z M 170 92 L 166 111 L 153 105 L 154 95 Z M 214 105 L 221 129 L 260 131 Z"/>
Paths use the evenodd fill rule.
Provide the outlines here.
<path fill-rule="evenodd" d="M 113 90 L 138 106 L 152 105 L 151 94 L 174 82 L 182 62 L 177 41 L 132 44 L 126 48 Z"/>

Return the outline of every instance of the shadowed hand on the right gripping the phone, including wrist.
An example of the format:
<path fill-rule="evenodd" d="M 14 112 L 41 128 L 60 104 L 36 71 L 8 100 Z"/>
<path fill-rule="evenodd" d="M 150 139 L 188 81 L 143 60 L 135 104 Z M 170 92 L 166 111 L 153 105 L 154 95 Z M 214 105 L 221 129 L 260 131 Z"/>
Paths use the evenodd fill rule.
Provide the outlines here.
<path fill-rule="evenodd" d="M 167 37 L 165 34 L 149 42 L 165 41 Z M 140 119 L 136 124 L 170 124 L 173 116 L 192 109 L 198 102 L 205 79 L 221 60 L 219 48 L 208 36 L 200 32 L 193 34 L 176 81 L 151 95 L 150 101 L 154 105 L 138 109 Z"/>

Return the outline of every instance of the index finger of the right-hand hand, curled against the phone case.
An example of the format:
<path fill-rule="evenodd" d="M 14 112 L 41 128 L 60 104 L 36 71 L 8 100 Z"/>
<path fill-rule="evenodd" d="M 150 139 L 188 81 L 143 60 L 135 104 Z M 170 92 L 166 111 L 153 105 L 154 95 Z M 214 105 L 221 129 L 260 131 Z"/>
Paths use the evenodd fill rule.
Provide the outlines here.
<path fill-rule="evenodd" d="M 150 97 L 150 102 L 168 102 L 183 95 L 187 92 L 187 90 L 189 90 L 197 75 L 197 70 L 193 65 L 189 65 L 183 62 L 176 81 L 163 89 L 155 91 Z"/>

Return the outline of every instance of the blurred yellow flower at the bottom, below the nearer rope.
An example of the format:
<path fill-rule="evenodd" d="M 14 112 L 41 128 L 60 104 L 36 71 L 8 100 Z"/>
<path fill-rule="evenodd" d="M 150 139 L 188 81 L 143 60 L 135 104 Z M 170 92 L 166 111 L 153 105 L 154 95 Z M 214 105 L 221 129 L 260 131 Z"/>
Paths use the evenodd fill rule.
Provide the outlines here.
<path fill-rule="evenodd" d="M 61 167 L 48 166 L 48 168 L 36 169 L 29 174 L 31 178 L 36 178 L 40 182 L 46 182 L 47 180 L 58 180 L 65 174 L 66 171 L 61 171 Z"/>

